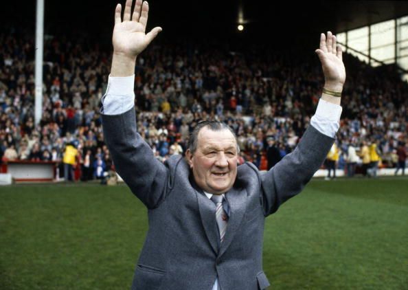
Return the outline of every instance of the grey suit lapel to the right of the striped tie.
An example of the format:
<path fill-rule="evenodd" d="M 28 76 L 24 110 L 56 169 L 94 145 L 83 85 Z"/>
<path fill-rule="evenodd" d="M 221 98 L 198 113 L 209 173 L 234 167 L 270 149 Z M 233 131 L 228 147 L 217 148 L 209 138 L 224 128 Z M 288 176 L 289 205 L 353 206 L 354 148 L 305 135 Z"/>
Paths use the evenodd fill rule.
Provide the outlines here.
<path fill-rule="evenodd" d="M 227 199 L 229 205 L 229 219 L 227 232 L 225 232 L 224 241 L 221 244 L 220 253 L 218 256 L 224 254 L 225 250 L 231 244 L 242 221 L 242 217 L 245 214 L 245 210 L 247 209 L 247 191 L 245 189 L 231 188 L 231 190 L 225 194 L 225 198 Z M 215 216 L 213 216 L 213 219 L 215 220 Z"/>

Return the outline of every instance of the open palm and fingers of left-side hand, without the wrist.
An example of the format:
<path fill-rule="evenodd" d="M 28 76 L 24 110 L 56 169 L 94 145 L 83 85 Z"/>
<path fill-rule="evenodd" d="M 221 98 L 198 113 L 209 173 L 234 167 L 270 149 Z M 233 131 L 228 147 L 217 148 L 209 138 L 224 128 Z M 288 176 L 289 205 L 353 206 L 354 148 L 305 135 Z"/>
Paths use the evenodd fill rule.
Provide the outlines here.
<path fill-rule="evenodd" d="M 122 6 L 117 4 L 112 37 L 114 52 L 129 57 L 140 54 L 161 32 L 161 27 L 155 27 L 148 34 L 145 34 L 149 11 L 148 3 L 136 0 L 133 14 L 131 13 L 132 3 L 133 0 L 126 1 L 123 21 L 121 17 Z"/>

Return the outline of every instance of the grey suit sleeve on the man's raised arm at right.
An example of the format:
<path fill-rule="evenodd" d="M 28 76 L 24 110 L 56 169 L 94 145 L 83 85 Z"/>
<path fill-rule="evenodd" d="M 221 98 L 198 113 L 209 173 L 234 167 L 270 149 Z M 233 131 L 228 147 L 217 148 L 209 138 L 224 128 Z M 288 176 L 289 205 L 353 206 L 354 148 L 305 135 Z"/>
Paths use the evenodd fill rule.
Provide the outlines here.
<path fill-rule="evenodd" d="M 264 215 L 273 214 L 282 203 L 302 191 L 323 163 L 334 138 L 312 125 L 295 150 L 267 172 L 260 172 Z"/>

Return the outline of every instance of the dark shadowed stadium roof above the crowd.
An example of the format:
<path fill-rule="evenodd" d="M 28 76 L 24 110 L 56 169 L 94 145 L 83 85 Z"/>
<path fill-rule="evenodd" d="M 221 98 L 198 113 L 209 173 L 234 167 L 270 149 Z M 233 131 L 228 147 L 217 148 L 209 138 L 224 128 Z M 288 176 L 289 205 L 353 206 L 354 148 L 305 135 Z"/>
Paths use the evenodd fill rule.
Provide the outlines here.
<path fill-rule="evenodd" d="M 35 24 L 35 1 L 16 6 L 2 3 L 2 22 Z M 117 2 L 100 0 L 45 0 L 45 31 L 54 27 L 111 32 Z M 241 34 L 254 41 L 277 37 L 315 38 L 319 32 L 335 33 L 408 15 L 408 1 L 186 1 L 150 0 L 149 26 L 161 25 L 166 34 L 231 37 L 238 34 L 238 11 L 246 23 Z M 16 18 L 19 14 L 21 18 Z"/>

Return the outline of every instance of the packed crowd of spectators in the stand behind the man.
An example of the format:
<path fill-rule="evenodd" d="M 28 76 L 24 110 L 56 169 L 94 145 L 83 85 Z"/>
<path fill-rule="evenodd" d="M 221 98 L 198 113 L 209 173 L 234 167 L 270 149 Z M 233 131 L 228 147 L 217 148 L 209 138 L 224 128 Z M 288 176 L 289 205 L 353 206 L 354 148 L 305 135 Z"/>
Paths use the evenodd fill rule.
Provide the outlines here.
<path fill-rule="evenodd" d="M 34 38 L 2 32 L 0 42 L 1 161 L 57 161 L 66 179 L 104 179 L 114 170 L 100 121 L 110 52 L 86 36 L 47 38 L 43 115 L 36 126 Z M 194 125 L 207 119 L 229 124 L 238 137 L 240 163 L 252 161 L 261 170 L 299 142 L 324 83 L 317 56 L 267 46 L 225 47 L 153 43 L 138 57 L 137 125 L 157 159 L 183 154 Z M 349 176 L 359 164 L 372 176 L 378 166 L 404 169 L 407 82 L 392 65 L 373 68 L 348 54 L 344 58 L 341 128 L 326 166 L 334 161 Z"/>

